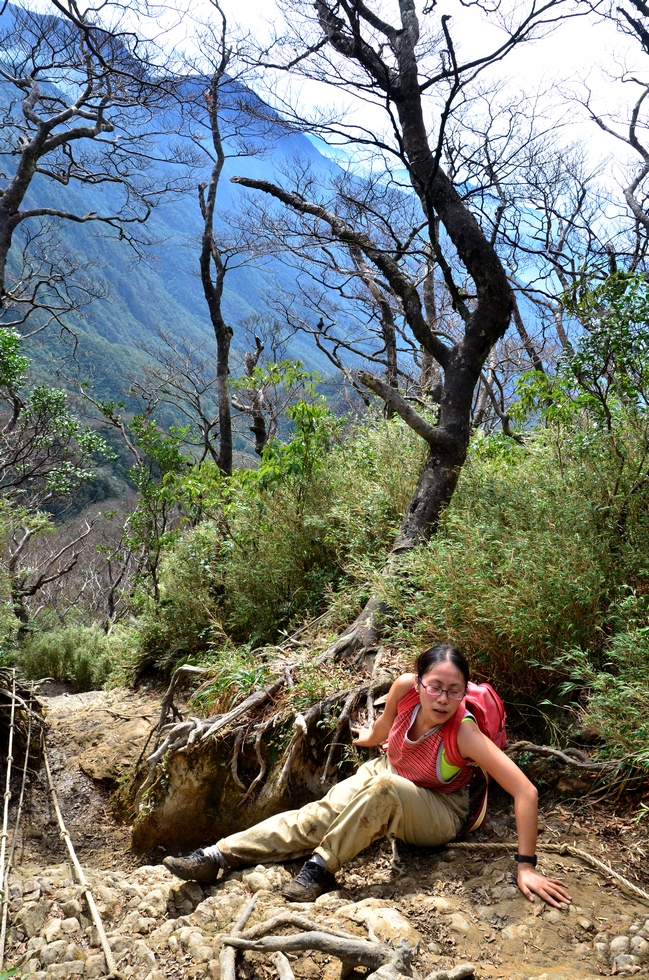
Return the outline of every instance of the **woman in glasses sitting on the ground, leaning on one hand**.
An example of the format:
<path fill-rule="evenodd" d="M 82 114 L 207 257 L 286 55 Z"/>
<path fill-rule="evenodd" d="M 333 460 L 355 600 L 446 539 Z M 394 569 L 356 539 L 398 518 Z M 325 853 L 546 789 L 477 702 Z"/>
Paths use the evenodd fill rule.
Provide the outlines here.
<path fill-rule="evenodd" d="M 385 711 L 371 728 L 356 729 L 363 748 L 387 739 L 387 754 L 337 783 L 322 800 L 263 820 L 187 858 L 166 857 L 179 878 L 213 882 L 219 870 L 310 855 L 283 889 L 292 901 L 310 902 L 336 887 L 333 873 L 373 841 L 392 834 L 408 844 L 438 847 L 462 829 L 468 812 L 472 766 L 481 766 L 514 797 L 518 833 L 518 887 L 534 901 L 570 902 L 564 885 L 535 870 L 537 791 L 527 776 L 465 715 L 457 747 L 466 761 L 451 766 L 444 753 L 444 725 L 460 707 L 469 667 L 448 644 L 425 650 L 416 674 L 402 674 L 390 688 Z"/>

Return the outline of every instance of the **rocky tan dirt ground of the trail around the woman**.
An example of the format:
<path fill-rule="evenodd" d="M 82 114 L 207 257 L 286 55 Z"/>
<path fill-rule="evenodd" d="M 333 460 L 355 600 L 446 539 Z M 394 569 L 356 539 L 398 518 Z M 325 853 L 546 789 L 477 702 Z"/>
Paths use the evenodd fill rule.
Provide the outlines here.
<path fill-rule="evenodd" d="M 337 891 L 312 904 L 288 903 L 280 894 L 299 864 L 231 873 L 210 887 L 174 879 L 152 856 L 139 864 L 129 850 L 128 826 L 111 813 L 108 787 L 126 778 L 158 709 L 155 699 L 126 691 L 59 695 L 47 702 L 61 809 L 123 977 L 216 980 L 222 976 L 223 936 L 257 893 L 242 935 L 259 934 L 256 926 L 288 912 L 302 925 L 285 922 L 275 934 L 295 934 L 307 919 L 314 928 L 358 939 L 392 946 L 405 941 L 420 978 L 649 978 L 649 904 L 574 858 L 548 855 L 540 862 L 569 884 L 573 904 L 562 910 L 527 902 L 515 886 L 511 857 L 489 850 L 476 856 L 399 844 L 396 863 L 384 841 L 344 868 Z M 5 967 L 16 966 L 33 980 L 102 977 L 106 963 L 97 930 L 45 789 L 40 773 L 31 782 L 9 879 Z M 547 803 L 540 827 L 541 841 L 575 843 L 649 886 L 642 824 L 635 827 L 610 807 L 582 801 Z M 476 839 L 510 840 L 512 828 L 508 800 L 496 797 L 488 828 Z M 289 962 L 296 978 L 341 977 L 341 961 L 329 954 L 303 951 L 289 955 Z M 278 976 L 271 958 L 255 951 L 239 953 L 236 969 L 240 978 Z"/>

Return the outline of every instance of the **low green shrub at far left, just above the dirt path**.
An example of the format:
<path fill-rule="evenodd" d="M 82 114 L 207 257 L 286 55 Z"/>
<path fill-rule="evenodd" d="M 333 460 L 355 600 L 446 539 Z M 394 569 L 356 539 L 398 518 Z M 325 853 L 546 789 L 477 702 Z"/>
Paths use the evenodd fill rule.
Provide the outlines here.
<path fill-rule="evenodd" d="M 99 626 L 77 623 L 47 633 L 33 633 L 20 647 L 16 662 L 29 680 L 53 677 L 76 692 L 94 691 L 119 679 L 129 663 L 129 631 L 107 636 Z"/>

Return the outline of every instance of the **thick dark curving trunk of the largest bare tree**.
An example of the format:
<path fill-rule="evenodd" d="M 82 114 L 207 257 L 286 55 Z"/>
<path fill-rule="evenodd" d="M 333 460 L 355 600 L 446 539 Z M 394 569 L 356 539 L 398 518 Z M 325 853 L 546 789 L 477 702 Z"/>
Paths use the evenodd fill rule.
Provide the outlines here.
<path fill-rule="evenodd" d="M 436 357 L 444 371 L 436 426 L 443 436 L 443 445 L 431 444 L 426 465 L 394 545 L 393 553 L 398 554 L 430 537 L 437 528 L 444 507 L 453 496 L 469 445 L 473 392 L 489 351 L 509 326 L 513 294 L 493 245 L 439 165 L 439 154 L 431 149 L 416 55 L 419 24 L 414 0 L 399 0 L 400 29 L 392 28 L 376 17 L 371 20 L 373 29 L 385 35 L 396 59 L 396 70 L 391 69 L 375 49 L 362 40 L 360 35 L 366 9 L 360 4 L 353 4 L 353 7 L 357 19 L 346 25 L 337 15 L 339 7 L 334 12 L 328 0 L 316 0 L 320 25 L 329 44 L 343 57 L 360 64 L 396 109 L 404 162 L 408 165 L 413 187 L 427 218 L 433 249 L 437 244 L 436 222 L 439 219 L 476 290 L 475 305 L 469 310 L 455 283 L 449 281 L 448 268 L 443 267 L 454 306 L 464 319 L 464 335 L 453 347 L 440 345 L 437 338 L 431 344 L 430 328 L 425 331 L 417 329 L 420 324 L 416 320 L 423 318 L 419 297 L 418 302 L 414 302 L 413 297 L 409 296 L 409 304 L 403 303 L 413 333 L 424 350 Z M 370 20 L 369 14 L 367 20 Z M 367 251 L 365 254 L 374 260 Z M 414 319 L 412 312 L 416 314 Z"/>

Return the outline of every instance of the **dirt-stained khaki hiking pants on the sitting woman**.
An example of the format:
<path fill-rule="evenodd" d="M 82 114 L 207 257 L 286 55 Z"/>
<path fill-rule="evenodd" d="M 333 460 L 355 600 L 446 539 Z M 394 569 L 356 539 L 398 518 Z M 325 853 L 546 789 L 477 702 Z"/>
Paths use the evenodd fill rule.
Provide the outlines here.
<path fill-rule="evenodd" d="M 386 834 L 425 847 L 448 843 L 463 827 L 468 804 L 468 787 L 457 793 L 422 789 L 399 776 L 382 755 L 337 783 L 324 799 L 262 820 L 218 846 L 235 868 L 315 852 L 335 872 Z"/>

